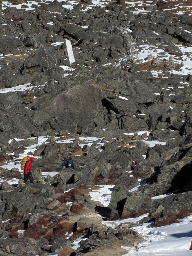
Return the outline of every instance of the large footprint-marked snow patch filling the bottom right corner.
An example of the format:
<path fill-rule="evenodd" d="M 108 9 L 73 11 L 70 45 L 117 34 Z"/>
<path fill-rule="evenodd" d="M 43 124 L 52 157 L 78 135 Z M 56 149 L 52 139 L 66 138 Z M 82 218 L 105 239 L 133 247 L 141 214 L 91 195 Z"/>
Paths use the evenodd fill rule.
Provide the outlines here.
<path fill-rule="evenodd" d="M 180 223 L 148 228 L 149 223 L 134 227 L 145 241 L 131 248 L 124 256 L 191 256 L 192 215 Z"/>

